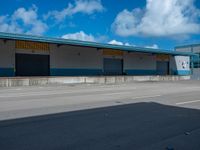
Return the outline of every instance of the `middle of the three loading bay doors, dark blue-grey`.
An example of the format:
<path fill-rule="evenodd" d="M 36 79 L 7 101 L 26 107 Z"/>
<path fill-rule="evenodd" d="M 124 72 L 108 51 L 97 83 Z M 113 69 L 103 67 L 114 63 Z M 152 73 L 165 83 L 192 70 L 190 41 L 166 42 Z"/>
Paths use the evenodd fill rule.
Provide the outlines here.
<path fill-rule="evenodd" d="M 123 59 L 104 58 L 104 75 L 122 75 Z"/>

